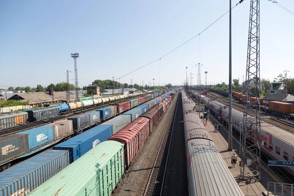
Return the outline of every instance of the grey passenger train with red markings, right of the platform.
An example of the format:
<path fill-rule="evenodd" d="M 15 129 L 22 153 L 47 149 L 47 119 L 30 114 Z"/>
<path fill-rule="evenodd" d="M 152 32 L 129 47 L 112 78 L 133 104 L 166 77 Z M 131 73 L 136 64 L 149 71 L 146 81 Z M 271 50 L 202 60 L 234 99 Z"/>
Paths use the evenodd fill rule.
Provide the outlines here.
<path fill-rule="evenodd" d="M 201 96 L 202 103 L 208 106 L 210 112 L 220 116 L 228 123 L 228 106 L 221 104 L 218 101 L 211 100 L 205 96 Z M 256 133 L 256 127 L 251 123 L 243 124 L 243 112 L 232 109 L 233 128 L 239 133 L 241 126 L 245 126 L 248 131 L 251 131 L 251 142 L 256 142 L 255 138 L 261 138 L 262 151 L 266 153 L 272 160 L 278 161 L 294 161 L 294 134 L 270 123 L 261 123 L 260 135 Z M 285 169 L 294 175 L 293 167 L 285 167 Z"/>

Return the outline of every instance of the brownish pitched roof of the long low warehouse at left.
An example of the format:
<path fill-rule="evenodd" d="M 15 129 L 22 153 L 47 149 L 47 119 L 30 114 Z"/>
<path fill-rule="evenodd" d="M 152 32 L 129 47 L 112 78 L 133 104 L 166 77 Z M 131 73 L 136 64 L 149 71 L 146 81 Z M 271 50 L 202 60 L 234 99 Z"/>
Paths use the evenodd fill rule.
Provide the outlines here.
<path fill-rule="evenodd" d="M 9 98 L 8 100 L 27 100 L 29 104 L 44 103 L 50 101 L 61 101 L 66 99 L 66 93 L 64 92 L 54 92 L 52 96 L 48 92 L 38 92 L 38 93 L 26 93 L 26 94 L 16 94 Z M 70 95 L 71 98 L 75 98 L 75 95 Z M 79 96 L 82 97 L 82 96 Z"/>

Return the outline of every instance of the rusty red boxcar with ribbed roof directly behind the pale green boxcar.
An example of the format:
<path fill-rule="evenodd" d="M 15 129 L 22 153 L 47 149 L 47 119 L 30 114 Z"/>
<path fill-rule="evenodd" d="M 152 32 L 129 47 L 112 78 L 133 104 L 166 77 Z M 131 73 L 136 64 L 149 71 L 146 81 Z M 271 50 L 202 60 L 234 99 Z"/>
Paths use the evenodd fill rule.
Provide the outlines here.
<path fill-rule="evenodd" d="M 107 140 L 114 140 L 124 145 L 124 165 L 128 168 L 149 134 L 149 119 L 139 117 Z"/>

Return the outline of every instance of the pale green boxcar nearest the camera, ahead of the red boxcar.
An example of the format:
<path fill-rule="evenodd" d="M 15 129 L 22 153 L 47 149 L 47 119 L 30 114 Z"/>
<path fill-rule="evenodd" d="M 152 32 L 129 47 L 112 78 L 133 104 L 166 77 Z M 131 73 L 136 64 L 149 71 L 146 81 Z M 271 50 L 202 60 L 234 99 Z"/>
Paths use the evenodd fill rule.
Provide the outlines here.
<path fill-rule="evenodd" d="M 123 144 L 105 141 L 28 196 L 110 196 L 123 173 Z"/>

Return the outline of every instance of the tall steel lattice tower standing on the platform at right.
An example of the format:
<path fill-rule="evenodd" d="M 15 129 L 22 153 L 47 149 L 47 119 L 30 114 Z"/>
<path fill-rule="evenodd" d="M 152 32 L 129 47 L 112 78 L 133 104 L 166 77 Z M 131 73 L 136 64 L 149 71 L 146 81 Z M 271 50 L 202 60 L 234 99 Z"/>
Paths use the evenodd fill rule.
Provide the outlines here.
<path fill-rule="evenodd" d="M 243 1 L 243 0 L 241 0 Z M 242 140 L 242 166 L 240 175 L 243 179 L 261 179 L 261 140 L 260 140 L 260 12 L 259 1 L 250 1 L 250 18 L 247 45 L 246 80 L 244 83 L 245 101 L 243 116 L 243 140 Z M 250 85 L 253 81 L 254 86 Z M 255 101 L 248 101 L 250 97 L 256 98 Z M 252 128 L 247 129 L 247 126 Z M 253 140 L 253 141 L 252 141 Z M 252 141 L 249 144 L 247 141 Z M 255 152 L 254 152 L 255 150 Z M 252 157 L 253 156 L 253 157 Z M 247 165 L 248 164 L 248 165 Z M 245 172 L 246 168 L 251 168 L 251 172 Z M 254 167 L 255 166 L 255 167 Z M 252 170 L 253 169 L 253 170 Z"/>

